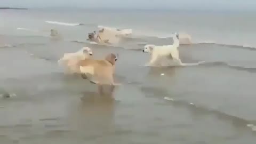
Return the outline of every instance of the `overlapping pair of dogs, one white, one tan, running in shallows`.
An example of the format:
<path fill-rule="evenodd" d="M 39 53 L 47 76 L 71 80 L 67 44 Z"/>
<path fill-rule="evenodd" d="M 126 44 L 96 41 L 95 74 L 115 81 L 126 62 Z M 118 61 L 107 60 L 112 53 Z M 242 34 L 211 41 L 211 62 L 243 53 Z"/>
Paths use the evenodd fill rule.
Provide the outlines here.
<path fill-rule="evenodd" d="M 103 94 L 103 85 L 111 85 L 110 92 L 118 85 L 113 77 L 117 56 L 118 54 L 110 53 L 105 59 L 93 59 L 92 50 L 83 47 L 75 53 L 65 53 L 58 63 L 67 68 L 68 74 L 81 74 L 82 78 L 98 84 L 99 93 Z"/>

